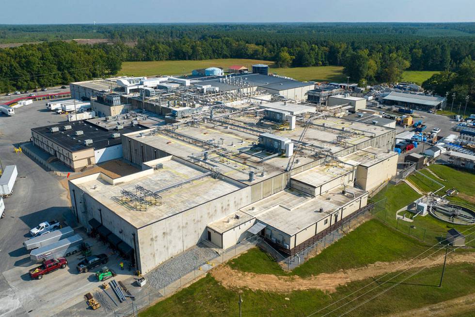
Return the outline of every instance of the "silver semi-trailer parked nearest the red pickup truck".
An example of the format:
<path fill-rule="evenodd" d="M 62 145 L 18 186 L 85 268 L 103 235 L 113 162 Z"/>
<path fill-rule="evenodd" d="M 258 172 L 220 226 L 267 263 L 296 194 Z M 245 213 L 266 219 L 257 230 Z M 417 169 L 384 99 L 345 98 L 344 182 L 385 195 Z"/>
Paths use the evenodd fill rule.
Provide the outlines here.
<path fill-rule="evenodd" d="M 82 237 L 79 234 L 75 234 L 58 242 L 32 250 L 30 258 L 35 262 L 41 262 L 43 260 L 69 256 L 80 251 L 82 244 Z"/>

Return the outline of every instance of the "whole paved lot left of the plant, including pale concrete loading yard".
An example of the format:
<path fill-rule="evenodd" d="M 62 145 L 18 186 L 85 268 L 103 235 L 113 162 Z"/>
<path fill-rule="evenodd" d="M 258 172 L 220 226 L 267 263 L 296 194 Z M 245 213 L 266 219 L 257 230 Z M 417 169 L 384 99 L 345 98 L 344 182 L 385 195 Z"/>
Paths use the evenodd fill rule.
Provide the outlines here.
<path fill-rule="evenodd" d="M 15 164 L 18 169 L 13 195 L 4 199 L 6 216 L 0 219 L 0 316 L 84 316 L 88 312 L 91 316 L 105 316 L 102 308 L 87 310 L 84 294 L 97 291 L 101 283 L 96 281 L 93 272 L 77 272 L 76 266 L 82 259 L 79 253 L 67 258 L 67 268 L 47 274 L 40 281 L 32 281 L 28 275 L 28 270 L 38 265 L 30 260 L 29 252 L 22 244 L 31 237 L 30 229 L 43 221 L 64 220 L 63 215 L 70 211 L 67 191 L 60 183 L 63 178 L 48 172 L 25 154 L 14 151 L 18 143 L 30 140 L 30 128 L 65 120 L 65 115 L 47 111 L 45 102 L 35 101 L 32 105 L 16 108 L 12 117 L 0 116 L 1 166 Z M 129 271 L 126 265 L 124 271 L 120 270 L 118 254 L 80 229 L 75 230 L 93 246 L 93 254 L 106 253 L 109 256 L 107 266 L 124 273 L 119 274 L 116 281 L 126 285 L 134 282 L 133 269 Z M 143 288 L 135 287 L 132 294 L 142 291 Z M 115 296 L 111 289 L 109 293 Z"/>

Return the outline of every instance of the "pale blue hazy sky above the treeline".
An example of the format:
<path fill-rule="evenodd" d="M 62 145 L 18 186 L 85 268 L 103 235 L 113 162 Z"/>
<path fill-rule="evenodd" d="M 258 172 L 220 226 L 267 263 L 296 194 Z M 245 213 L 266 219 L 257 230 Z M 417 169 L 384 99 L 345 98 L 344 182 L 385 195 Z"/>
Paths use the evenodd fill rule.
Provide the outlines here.
<path fill-rule="evenodd" d="M 0 24 L 473 22 L 475 0 L 0 0 Z"/>

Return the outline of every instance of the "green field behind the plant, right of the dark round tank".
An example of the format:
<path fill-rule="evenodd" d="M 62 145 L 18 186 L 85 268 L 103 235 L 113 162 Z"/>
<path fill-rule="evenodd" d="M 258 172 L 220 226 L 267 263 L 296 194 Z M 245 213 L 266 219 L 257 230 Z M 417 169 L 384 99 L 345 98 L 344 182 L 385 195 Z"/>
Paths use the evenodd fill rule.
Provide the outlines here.
<path fill-rule="evenodd" d="M 340 66 L 314 66 L 292 68 L 269 68 L 269 72 L 292 77 L 299 81 L 337 82 L 347 81 Z"/>

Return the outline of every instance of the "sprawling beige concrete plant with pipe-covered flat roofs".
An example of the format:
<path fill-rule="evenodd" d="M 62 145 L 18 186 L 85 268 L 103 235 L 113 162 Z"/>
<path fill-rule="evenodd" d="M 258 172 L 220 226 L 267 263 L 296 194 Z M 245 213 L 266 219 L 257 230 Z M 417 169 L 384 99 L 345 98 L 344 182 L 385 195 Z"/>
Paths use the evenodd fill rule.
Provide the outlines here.
<path fill-rule="evenodd" d="M 126 243 L 143 273 L 202 241 L 225 250 L 256 234 L 294 254 L 396 175 L 395 129 L 287 97 L 312 84 L 249 73 L 147 81 L 117 79 L 114 89 L 166 122 L 121 133 L 123 159 L 140 171 L 69 181 L 79 223 Z"/>

